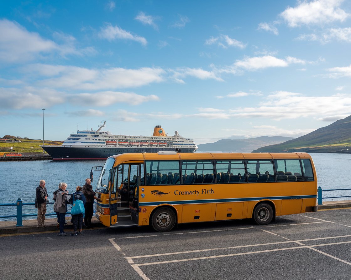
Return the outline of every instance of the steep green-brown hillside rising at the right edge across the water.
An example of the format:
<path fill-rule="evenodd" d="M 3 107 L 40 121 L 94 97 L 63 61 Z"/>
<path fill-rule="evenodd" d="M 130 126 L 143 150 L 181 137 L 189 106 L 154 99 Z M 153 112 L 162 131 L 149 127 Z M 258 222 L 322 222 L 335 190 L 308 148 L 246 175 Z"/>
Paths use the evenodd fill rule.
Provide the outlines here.
<path fill-rule="evenodd" d="M 253 152 L 351 153 L 351 116 L 299 138 Z"/>

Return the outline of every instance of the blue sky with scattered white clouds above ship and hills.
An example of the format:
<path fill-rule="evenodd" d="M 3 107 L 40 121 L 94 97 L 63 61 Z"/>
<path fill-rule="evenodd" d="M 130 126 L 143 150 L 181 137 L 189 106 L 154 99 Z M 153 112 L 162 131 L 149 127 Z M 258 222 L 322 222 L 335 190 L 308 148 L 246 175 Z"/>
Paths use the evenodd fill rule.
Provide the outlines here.
<path fill-rule="evenodd" d="M 350 50 L 343 0 L 0 1 L 0 137 L 299 137 L 351 115 Z"/>

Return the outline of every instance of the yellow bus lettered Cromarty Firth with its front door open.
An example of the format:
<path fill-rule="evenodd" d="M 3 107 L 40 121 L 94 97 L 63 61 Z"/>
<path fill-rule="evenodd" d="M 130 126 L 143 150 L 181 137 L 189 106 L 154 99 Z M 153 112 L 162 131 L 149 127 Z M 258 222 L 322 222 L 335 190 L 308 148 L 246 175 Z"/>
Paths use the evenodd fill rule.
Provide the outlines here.
<path fill-rule="evenodd" d="M 109 227 L 165 232 L 181 223 L 247 218 L 266 225 L 317 211 L 307 153 L 125 153 L 92 170 L 101 171 L 95 216 Z"/>

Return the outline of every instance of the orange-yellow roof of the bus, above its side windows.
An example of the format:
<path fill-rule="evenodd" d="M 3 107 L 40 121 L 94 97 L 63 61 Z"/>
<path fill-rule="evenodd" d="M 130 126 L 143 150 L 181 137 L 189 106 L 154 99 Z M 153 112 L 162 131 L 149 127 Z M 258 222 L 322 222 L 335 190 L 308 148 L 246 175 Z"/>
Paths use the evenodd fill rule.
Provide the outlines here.
<path fill-rule="evenodd" d="M 310 159 L 307 153 L 125 153 L 110 156 L 115 158 L 115 165 L 123 162 L 144 160 L 234 160 L 234 159 Z"/>

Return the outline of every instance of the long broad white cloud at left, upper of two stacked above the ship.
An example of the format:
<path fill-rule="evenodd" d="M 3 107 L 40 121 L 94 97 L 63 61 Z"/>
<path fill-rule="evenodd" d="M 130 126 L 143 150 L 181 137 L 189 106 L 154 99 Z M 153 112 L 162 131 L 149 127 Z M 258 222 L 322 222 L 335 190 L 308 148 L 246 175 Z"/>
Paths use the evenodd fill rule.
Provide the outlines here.
<path fill-rule="evenodd" d="M 104 90 L 139 87 L 163 81 L 165 71 L 160 68 L 107 68 L 87 69 L 76 66 L 32 64 L 22 71 L 49 77 L 38 84 L 67 90 Z"/>

